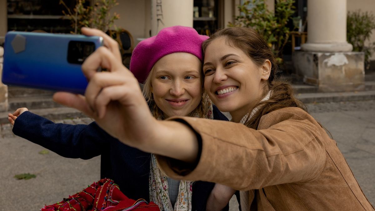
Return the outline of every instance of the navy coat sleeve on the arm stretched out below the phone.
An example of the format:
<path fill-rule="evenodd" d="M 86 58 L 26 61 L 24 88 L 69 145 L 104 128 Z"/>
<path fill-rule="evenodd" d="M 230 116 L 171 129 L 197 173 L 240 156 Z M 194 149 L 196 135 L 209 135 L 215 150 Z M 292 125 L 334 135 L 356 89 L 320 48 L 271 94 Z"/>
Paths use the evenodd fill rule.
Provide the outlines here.
<path fill-rule="evenodd" d="M 89 125 L 55 124 L 31 112 L 18 116 L 13 133 L 63 157 L 82 159 L 100 155 L 110 139 L 114 139 L 95 122 Z"/>

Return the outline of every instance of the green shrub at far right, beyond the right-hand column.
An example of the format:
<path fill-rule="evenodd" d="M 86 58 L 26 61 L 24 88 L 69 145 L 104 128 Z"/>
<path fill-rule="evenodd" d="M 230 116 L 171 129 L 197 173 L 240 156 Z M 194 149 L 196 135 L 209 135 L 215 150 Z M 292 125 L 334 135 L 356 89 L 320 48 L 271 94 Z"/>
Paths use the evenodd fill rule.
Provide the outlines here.
<path fill-rule="evenodd" d="M 353 45 L 353 51 L 365 52 L 365 68 L 370 68 L 370 58 L 375 51 L 375 42 L 369 42 L 372 30 L 375 29 L 375 16 L 369 12 L 360 10 L 350 12 L 347 15 L 347 40 Z"/>

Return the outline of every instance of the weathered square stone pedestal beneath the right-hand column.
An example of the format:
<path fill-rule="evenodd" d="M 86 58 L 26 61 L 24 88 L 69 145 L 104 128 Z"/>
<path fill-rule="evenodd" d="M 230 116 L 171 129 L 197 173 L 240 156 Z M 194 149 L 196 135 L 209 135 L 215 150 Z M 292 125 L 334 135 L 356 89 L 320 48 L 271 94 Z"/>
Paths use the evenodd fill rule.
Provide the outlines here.
<path fill-rule="evenodd" d="M 363 52 L 296 51 L 293 65 L 303 81 L 318 86 L 320 92 L 365 90 Z"/>

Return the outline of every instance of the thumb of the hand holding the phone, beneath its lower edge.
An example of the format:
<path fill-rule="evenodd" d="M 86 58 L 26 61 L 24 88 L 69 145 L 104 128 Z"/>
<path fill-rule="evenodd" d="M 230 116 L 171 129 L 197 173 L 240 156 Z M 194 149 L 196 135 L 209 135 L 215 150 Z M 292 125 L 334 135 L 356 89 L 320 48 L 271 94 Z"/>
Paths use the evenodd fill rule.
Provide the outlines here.
<path fill-rule="evenodd" d="M 53 100 L 62 105 L 80 110 L 91 118 L 95 116 L 95 113 L 87 104 L 86 98 L 82 95 L 77 95 L 69 92 L 56 92 L 53 95 Z"/>

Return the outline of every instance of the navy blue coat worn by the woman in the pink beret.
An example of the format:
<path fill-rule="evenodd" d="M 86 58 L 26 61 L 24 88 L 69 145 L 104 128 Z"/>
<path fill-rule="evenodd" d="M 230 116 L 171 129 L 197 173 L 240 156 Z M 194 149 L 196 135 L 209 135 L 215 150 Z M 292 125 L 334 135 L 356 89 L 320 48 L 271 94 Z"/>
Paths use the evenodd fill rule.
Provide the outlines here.
<path fill-rule="evenodd" d="M 228 120 L 216 106 L 214 119 Z M 55 124 L 24 112 L 14 124 L 13 133 L 66 158 L 90 159 L 101 155 L 101 178 L 110 178 L 131 199 L 149 201 L 150 154 L 124 145 L 95 122 L 89 125 Z M 214 183 L 193 184 L 192 210 L 205 210 Z M 228 209 L 226 209 L 228 210 Z"/>

